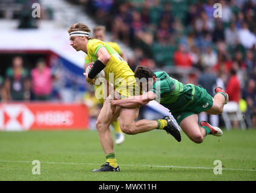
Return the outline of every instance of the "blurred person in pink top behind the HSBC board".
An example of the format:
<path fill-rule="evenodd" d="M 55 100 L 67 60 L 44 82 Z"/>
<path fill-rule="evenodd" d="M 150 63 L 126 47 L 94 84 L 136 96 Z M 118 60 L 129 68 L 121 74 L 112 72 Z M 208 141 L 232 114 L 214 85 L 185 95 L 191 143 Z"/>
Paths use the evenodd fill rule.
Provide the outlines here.
<path fill-rule="evenodd" d="M 35 100 L 46 101 L 51 99 L 53 88 L 51 69 L 47 67 L 43 59 L 39 59 L 36 68 L 32 69 L 31 81 Z"/>

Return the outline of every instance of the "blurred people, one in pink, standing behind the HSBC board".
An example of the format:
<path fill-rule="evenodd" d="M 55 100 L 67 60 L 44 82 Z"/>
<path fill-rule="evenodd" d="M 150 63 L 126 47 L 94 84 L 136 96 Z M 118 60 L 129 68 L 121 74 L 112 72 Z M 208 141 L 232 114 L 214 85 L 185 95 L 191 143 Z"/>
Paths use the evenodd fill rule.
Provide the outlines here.
<path fill-rule="evenodd" d="M 54 75 L 44 59 L 39 59 L 35 68 L 28 71 L 24 60 L 16 56 L 12 66 L 1 77 L 2 101 L 47 101 L 51 100 Z"/>

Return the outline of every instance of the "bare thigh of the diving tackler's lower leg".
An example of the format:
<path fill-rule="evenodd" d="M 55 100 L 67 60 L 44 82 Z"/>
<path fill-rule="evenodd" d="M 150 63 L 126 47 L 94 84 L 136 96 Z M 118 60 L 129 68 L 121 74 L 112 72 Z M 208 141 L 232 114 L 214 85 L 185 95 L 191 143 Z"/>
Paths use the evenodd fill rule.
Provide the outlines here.
<path fill-rule="evenodd" d="M 184 118 L 180 122 L 180 127 L 186 135 L 194 141 L 197 138 L 202 138 L 202 133 L 198 124 L 199 116 L 197 114 L 192 114 Z"/>

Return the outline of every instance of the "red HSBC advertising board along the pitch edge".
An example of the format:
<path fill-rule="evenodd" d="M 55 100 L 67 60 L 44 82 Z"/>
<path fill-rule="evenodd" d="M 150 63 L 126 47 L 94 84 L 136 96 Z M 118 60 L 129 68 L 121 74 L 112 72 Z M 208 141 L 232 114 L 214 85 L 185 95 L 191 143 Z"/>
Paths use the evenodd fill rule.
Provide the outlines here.
<path fill-rule="evenodd" d="M 87 130 L 87 106 L 62 103 L 0 103 L 0 130 Z"/>

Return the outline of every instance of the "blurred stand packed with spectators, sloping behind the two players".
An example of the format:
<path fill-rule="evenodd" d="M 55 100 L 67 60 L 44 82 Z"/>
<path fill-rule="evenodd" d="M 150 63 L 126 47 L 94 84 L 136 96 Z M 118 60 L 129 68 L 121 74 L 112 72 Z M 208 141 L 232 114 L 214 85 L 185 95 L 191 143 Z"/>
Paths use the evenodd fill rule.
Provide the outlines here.
<path fill-rule="evenodd" d="M 139 46 L 144 57 L 156 62 L 156 69 L 165 69 L 180 80 L 197 83 L 192 77 L 199 77 L 211 59 L 212 71 L 218 78 L 222 77 L 224 86 L 233 68 L 238 74 L 241 93 L 246 90 L 252 66 L 255 69 L 255 1 L 218 1 L 223 11 L 219 18 L 214 17 L 213 5 L 217 1 L 213 0 L 76 2 L 83 4 L 95 21 L 106 25 L 116 39 L 132 48 Z M 102 9 L 105 4 L 107 10 Z M 208 50 L 211 55 L 207 55 Z M 186 63 L 184 57 L 191 61 Z M 184 62 L 190 68 L 180 69 Z M 239 97 L 246 100 L 243 95 Z M 253 106 L 255 110 L 255 98 Z M 251 115 L 255 119 L 254 113 Z"/>

